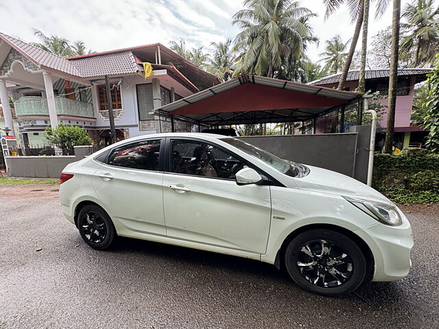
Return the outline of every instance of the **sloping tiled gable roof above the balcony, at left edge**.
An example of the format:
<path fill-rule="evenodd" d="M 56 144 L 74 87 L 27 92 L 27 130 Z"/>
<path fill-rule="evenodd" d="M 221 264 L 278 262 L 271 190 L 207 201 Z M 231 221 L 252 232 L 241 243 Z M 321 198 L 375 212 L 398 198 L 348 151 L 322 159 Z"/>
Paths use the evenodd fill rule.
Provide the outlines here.
<path fill-rule="evenodd" d="M 32 60 L 32 62 L 35 64 L 44 65 L 50 69 L 56 69 L 64 73 L 80 76 L 78 69 L 76 69 L 76 67 L 65 58 L 56 56 L 53 53 L 49 53 L 48 51 L 29 45 L 26 42 L 12 38 L 12 36 L 8 36 L 3 33 L 0 33 L 0 38 L 5 40 L 5 42 L 7 42 L 11 47 L 14 47 L 17 51 L 21 52 L 23 56 L 26 56 L 29 58 L 29 60 Z"/>

